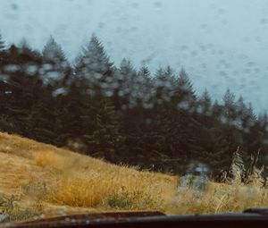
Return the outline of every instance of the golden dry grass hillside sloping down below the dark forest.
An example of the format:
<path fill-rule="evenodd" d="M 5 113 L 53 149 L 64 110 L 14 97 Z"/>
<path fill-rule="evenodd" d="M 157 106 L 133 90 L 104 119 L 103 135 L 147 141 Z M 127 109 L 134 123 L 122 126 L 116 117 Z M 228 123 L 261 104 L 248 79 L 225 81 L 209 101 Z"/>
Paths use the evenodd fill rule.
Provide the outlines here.
<path fill-rule="evenodd" d="M 0 211 L 14 220 L 115 210 L 188 214 L 268 207 L 268 190 L 256 184 L 210 182 L 203 194 L 178 186 L 179 177 L 138 172 L 0 133 Z"/>

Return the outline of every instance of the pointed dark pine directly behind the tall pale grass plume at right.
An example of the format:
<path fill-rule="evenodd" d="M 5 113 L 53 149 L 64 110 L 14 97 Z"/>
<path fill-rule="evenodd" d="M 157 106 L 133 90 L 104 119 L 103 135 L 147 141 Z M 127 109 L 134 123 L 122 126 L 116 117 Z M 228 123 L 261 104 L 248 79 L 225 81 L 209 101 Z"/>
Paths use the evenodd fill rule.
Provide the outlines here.
<path fill-rule="evenodd" d="M 242 107 L 242 99 L 239 99 L 239 106 Z M 213 125 L 210 129 L 211 145 L 213 145 L 210 160 L 214 171 L 228 169 L 231 151 L 236 151 L 238 147 L 242 148 L 244 145 L 243 135 L 238 129 L 239 106 L 230 89 L 227 89 L 223 97 L 222 106 L 217 101 L 214 102 Z"/>

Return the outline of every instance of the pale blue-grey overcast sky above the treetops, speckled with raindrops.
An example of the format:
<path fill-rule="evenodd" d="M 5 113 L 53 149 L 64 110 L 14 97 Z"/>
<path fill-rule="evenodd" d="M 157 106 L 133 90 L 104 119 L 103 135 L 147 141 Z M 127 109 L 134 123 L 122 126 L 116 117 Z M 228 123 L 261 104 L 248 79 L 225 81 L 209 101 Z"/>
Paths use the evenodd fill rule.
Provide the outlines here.
<path fill-rule="evenodd" d="M 117 65 L 183 65 L 197 93 L 268 109 L 268 0 L 0 0 L 0 32 L 39 50 L 53 35 L 71 61 L 95 32 Z"/>

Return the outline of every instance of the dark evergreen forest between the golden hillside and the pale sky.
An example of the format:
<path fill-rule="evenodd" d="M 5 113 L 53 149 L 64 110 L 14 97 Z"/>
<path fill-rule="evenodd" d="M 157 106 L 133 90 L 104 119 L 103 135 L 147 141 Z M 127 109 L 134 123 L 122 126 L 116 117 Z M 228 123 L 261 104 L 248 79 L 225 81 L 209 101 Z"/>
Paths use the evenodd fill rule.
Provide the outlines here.
<path fill-rule="evenodd" d="M 215 176 L 237 148 L 246 163 L 259 151 L 266 168 L 268 115 L 230 89 L 216 100 L 207 89 L 197 96 L 183 67 L 116 66 L 96 35 L 74 64 L 53 37 L 42 52 L 5 43 L 0 36 L 0 131 L 163 173 L 194 162 Z"/>

